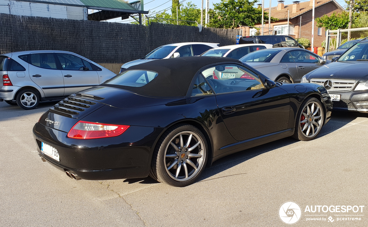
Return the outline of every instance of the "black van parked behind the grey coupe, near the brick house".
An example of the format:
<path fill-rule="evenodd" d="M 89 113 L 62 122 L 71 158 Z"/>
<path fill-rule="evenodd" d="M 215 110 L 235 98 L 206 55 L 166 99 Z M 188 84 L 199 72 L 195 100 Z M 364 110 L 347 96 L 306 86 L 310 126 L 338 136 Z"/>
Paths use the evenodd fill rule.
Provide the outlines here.
<path fill-rule="evenodd" d="M 293 37 L 284 35 L 270 35 L 270 36 L 245 36 L 239 40 L 239 44 L 263 43 L 272 44 L 273 47 L 300 47 L 300 45 Z"/>

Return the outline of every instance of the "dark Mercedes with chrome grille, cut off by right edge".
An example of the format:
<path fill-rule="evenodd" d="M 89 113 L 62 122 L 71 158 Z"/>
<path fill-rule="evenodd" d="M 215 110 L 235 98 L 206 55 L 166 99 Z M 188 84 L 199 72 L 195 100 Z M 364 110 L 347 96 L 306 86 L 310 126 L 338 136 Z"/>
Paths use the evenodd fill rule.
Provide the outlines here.
<path fill-rule="evenodd" d="M 302 78 L 327 89 L 333 109 L 368 113 L 368 40 L 354 44 L 328 67 L 316 69 Z"/>

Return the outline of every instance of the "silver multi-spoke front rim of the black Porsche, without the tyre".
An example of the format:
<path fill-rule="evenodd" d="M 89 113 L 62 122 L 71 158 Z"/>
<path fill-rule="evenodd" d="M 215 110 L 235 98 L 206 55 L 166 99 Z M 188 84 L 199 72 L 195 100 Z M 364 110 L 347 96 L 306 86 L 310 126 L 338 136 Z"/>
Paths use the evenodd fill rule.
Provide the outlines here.
<path fill-rule="evenodd" d="M 299 127 L 305 137 L 311 138 L 319 132 L 323 123 L 323 109 L 317 102 L 308 102 L 303 107 Z"/>

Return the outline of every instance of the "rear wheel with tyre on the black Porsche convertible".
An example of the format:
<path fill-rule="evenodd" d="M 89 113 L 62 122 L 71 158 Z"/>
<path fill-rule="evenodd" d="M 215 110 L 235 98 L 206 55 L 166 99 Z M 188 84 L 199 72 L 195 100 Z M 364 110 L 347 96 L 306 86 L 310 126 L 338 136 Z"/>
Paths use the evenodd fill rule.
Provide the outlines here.
<path fill-rule="evenodd" d="M 205 168 L 207 155 L 207 142 L 198 128 L 188 124 L 175 125 L 159 139 L 149 175 L 175 187 L 190 185 Z"/>

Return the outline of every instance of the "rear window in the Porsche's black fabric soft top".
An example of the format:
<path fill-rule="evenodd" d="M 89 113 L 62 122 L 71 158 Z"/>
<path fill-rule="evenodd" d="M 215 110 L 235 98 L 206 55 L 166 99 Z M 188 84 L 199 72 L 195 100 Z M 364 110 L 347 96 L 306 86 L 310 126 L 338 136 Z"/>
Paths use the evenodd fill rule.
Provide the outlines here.
<path fill-rule="evenodd" d="M 157 77 L 158 73 L 146 70 L 127 70 L 120 73 L 105 84 L 128 87 L 143 87 Z"/>

